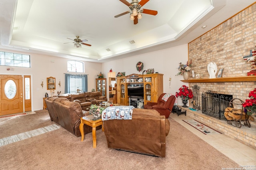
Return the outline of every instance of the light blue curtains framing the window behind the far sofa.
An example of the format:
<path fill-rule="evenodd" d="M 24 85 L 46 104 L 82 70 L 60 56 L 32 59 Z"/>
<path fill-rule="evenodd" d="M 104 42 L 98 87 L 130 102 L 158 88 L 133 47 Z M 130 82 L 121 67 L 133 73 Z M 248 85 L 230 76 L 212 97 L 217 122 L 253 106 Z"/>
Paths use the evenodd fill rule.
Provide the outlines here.
<path fill-rule="evenodd" d="M 82 74 L 65 74 L 65 93 L 70 93 L 70 77 L 77 77 L 82 78 L 82 91 L 87 92 L 88 91 L 88 81 L 87 81 L 87 75 Z"/>

